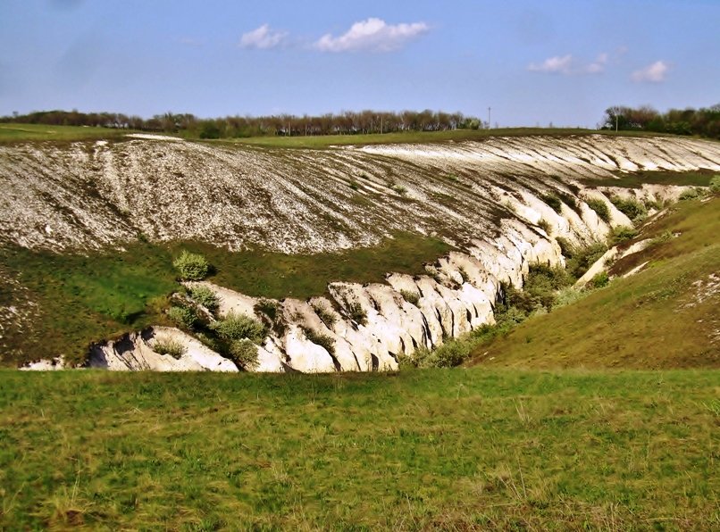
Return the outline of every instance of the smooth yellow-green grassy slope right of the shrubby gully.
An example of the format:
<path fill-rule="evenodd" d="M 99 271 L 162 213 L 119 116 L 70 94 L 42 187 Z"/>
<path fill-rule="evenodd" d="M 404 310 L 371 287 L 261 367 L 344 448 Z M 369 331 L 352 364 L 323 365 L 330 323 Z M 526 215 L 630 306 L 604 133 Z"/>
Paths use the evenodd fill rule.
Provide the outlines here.
<path fill-rule="evenodd" d="M 718 196 L 707 203 L 677 204 L 636 239 L 666 231 L 680 237 L 627 257 L 611 273 L 649 262 L 645 270 L 525 321 L 507 337 L 478 348 L 475 362 L 532 368 L 720 367 L 720 294 L 697 302 L 693 286 L 720 271 L 718 212 Z"/>

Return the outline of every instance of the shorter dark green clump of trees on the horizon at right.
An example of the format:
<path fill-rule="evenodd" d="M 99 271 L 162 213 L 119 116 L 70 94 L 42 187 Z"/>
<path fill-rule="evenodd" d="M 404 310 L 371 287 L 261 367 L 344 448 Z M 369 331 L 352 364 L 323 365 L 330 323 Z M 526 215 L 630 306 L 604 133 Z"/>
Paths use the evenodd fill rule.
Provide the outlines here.
<path fill-rule="evenodd" d="M 670 109 L 663 113 L 649 105 L 615 105 L 607 108 L 600 129 L 720 138 L 720 104 L 700 109 Z"/>

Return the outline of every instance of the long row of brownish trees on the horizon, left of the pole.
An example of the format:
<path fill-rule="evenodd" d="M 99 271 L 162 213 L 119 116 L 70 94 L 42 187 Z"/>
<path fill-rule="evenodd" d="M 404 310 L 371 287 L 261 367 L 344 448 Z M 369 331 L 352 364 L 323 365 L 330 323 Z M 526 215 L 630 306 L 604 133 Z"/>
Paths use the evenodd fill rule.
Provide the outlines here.
<path fill-rule="evenodd" d="M 278 114 L 271 116 L 226 116 L 200 119 L 193 114 L 156 114 L 143 119 L 120 112 L 38 111 L 13 113 L 0 117 L 0 122 L 22 122 L 48 126 L 88 126 L 138 129 L 164 133 L 180 133 L 188 137 L 231 138 L 262 136 L 357 135 L 395 133 L 399 131 L 447 131 L 449 129 L 483 129 L 486 122 L 462 112 L 340 112 L 319 116 Z"/>

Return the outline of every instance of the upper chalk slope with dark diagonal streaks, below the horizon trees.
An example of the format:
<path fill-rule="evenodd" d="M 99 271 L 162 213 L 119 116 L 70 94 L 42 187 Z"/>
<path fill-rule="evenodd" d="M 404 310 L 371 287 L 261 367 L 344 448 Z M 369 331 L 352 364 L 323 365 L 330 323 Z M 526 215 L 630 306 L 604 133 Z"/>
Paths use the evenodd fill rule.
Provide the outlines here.
<path fill-rule="evenodd" d="M 152 139 L 2 145 L 0 239 L 59 251 L 142 233 L 314 253 L 373 245 L 393 230 L 457 243 L 497 237 L 500 218 L 517 218 L 587 240 L 589 212 L 565 205 L 558 215 L 542 195 L 577 195 L 583 178 L 609 185 L 617 171 L 699 168 L 720 170 L 720 145 L 600 135 L 328 150 Z"/>

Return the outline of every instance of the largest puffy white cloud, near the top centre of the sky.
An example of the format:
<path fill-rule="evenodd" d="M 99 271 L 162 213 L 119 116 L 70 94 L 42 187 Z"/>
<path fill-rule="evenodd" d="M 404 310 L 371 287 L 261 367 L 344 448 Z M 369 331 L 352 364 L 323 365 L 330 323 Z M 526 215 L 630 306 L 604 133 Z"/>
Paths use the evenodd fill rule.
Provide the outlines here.
<path fill-rule="evenodd" d="M 332 37 L 330 33 L 323 35 L 314 43 L 314 47 L 322 52 L 354 50 L 391 52 L 429 29 L 430 27 L 424 22 L 392 25 L 381 19 L 370 18 L 356 22 L 339 37 Z"/>

